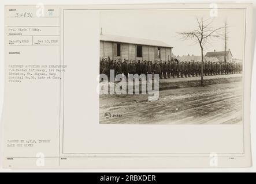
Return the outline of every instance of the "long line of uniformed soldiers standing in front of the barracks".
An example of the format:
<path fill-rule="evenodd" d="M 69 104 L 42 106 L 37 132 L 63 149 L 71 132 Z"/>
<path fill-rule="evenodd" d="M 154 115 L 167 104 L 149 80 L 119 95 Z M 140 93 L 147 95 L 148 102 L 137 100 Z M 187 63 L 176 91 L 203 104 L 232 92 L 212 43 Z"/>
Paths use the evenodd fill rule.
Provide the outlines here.
<path fill-rule="evenodd" d="M 191 76 L 201 76 L 201 62 L 194 60 L 179 62 L 176 58 L 166 61 L 146 61 L 146 60 L 133 60 L 128 61 L 124 59 L 100 60 L 100 74 L 109 76 L 109 71 L 114 70 L 115 76 L 117 74 L 158 74 L 159 78 L 187 78 Z M 204 62 L 203 74 L 204 75 L 224 75 L 224 74 L 238 74 L 243 70 L 242 63 L 221 63 L 221 62 Z"/>

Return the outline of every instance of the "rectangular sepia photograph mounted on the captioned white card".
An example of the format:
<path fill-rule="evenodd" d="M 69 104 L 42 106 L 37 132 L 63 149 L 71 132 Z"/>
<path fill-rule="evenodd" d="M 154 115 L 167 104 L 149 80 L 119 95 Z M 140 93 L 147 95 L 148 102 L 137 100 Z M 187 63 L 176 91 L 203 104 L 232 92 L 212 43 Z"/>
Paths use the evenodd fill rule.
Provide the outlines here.
<path fill-rule="evenodd" d="M 244 10 L 101 11 L 100 18 L 99 72 L 108 76 L 100 83 L 127 82 L 121 94 L 100 94 L 100 124 L 243 123 Z M 129 77 L 142 75 L 135 93 Z M 149 101 L 143 82 L 156 75 L 159 97 Z"/>

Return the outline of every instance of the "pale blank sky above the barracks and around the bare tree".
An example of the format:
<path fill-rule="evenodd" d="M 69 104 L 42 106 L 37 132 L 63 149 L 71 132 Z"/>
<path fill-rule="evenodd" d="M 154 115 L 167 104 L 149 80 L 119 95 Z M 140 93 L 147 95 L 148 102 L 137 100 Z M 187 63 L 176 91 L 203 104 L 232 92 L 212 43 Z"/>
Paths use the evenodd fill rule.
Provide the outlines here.
<path fill-rule="evenodd" d="M 213 28 L 228 23 L 228 45 L 235 58 L 243 59 L 244 48 L 244 10 L 221 9 L 214 18 Z M 196 17 L 210 18 L 209 10 L 106 10 L 100 13 L 100 26 L 104 34 L 139 37 L 164 41 L 173 47 L 174 55 L 201 55 L 198 44 L 191 40 L 181 40 L 177 32 L 196 29 Z M 223 29 L 224 33 L 224 29 Z M 224 51 L 224 40 L 213 40 L 206 45 L 207 51 Z M 204 53 L 204 54 L 205 54 Z"/>

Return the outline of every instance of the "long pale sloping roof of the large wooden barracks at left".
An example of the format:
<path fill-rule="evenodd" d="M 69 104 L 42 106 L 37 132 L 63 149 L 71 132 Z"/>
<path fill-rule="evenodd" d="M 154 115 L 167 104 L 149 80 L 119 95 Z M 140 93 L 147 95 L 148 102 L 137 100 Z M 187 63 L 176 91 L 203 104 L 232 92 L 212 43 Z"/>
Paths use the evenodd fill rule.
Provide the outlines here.
<path fill-rule="evenodd" d="M 139 39 L 134 37 L 127 36 L 117 36 L 112 34 L 100 34 L 101 41 L 112 41 L 112 42 L 120 42 L 120 43 L 128 43 L 128 44 L 139 44 L 139 45 L 150 45 L 157 47 L 169 47 L 170 45 L 157 40 L 149 40 L 149 39 Z"/>

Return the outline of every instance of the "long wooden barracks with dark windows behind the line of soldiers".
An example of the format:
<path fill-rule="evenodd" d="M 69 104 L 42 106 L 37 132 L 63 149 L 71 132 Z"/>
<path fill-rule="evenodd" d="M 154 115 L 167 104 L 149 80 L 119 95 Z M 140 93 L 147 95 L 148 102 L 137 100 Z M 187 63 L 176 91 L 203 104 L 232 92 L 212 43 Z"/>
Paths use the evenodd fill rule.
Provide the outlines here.
<path fill-rule="evenodd" d="M 163 60 L 172 56 L 172 47 L 157 40 L 100 34 L 100 57 L 113 60 Z"/>

